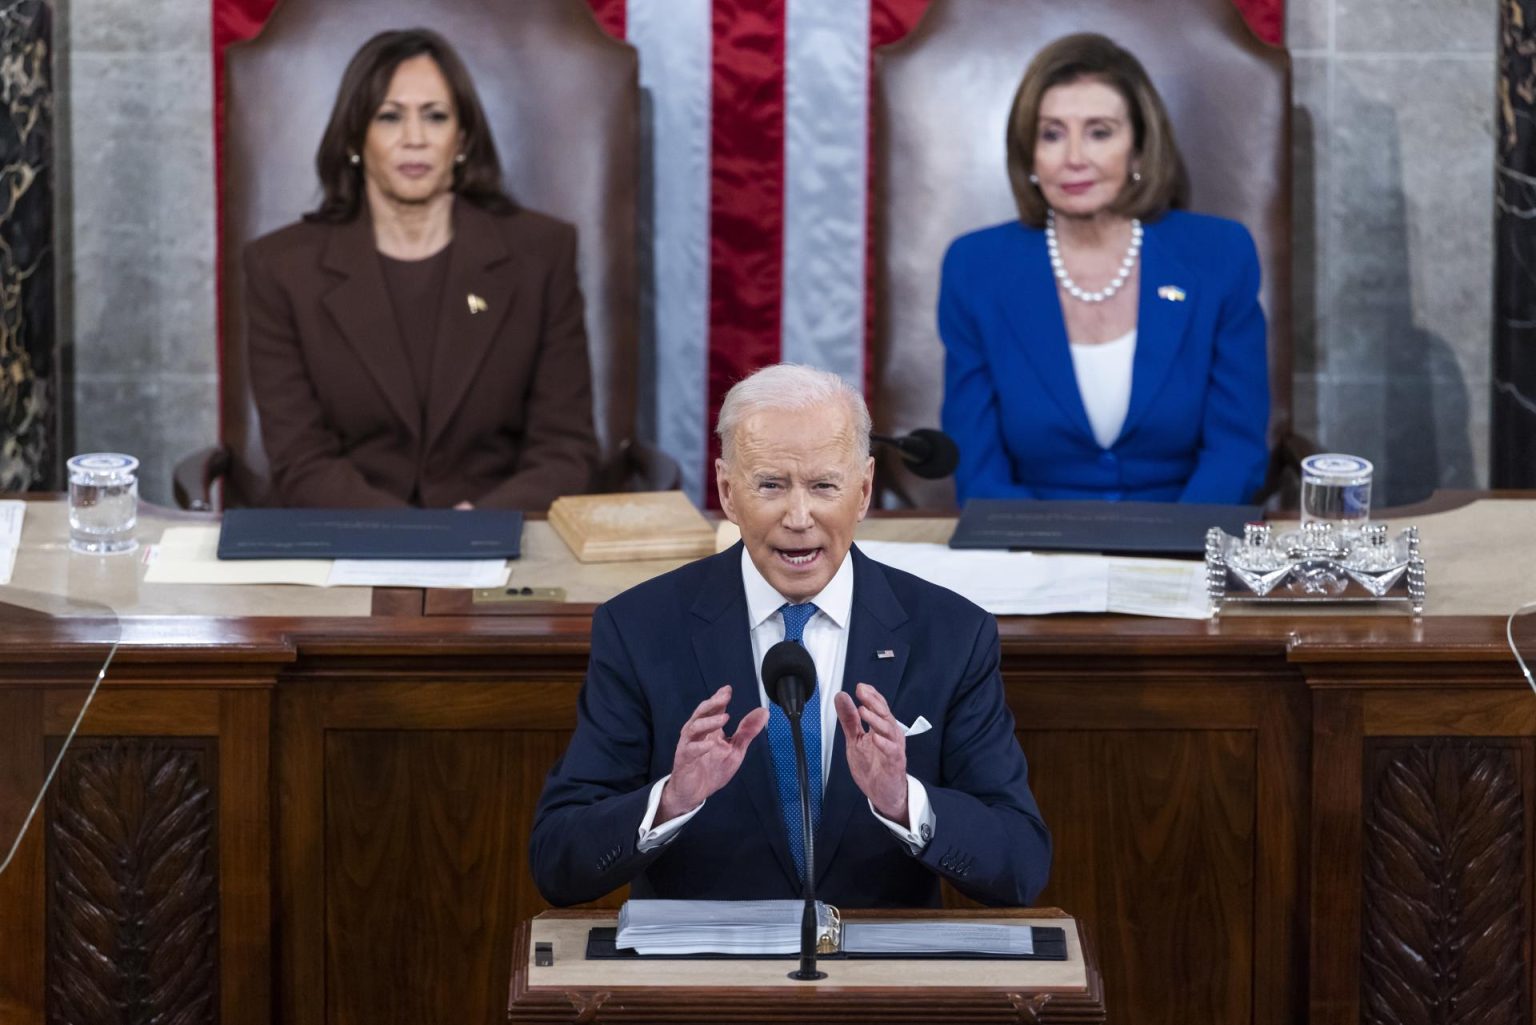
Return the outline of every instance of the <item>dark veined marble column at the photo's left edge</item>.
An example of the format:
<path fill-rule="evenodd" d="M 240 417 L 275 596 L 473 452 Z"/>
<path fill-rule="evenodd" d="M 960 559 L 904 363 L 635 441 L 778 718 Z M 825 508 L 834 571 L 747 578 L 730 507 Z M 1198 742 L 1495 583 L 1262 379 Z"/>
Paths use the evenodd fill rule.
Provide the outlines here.
<path fill-rule="evenodd" d="M 0 492 L 58 487 L 54 6 L 0 0 Z"/>

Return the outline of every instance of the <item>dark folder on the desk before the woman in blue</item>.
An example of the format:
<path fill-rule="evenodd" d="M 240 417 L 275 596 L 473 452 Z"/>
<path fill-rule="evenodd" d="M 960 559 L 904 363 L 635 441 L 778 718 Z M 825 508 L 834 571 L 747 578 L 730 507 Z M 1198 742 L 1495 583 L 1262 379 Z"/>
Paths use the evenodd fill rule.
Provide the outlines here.
<path fill-rule="evenodd" d="M 1241 536 L 1243 524 L 1261 518 L 1258 506 L 975 498 L 949 547 L 1204 555 L 1210 527 Z"/>

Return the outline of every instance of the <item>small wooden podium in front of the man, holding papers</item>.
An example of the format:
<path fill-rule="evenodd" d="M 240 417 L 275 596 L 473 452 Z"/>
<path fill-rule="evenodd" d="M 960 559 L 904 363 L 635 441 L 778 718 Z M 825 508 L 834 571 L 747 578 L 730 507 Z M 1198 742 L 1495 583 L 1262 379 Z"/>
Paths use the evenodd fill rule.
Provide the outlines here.
<path fill-rule="evenodd" d="M 518 927 L 507 1020 L 522 1022 L 1103 1022 L 1104 991 L 1077 919 L 1055 908 L 843 911 L 845 921 L 985 919 L 1060 925 L 1066 960 L 823 959 L 796 982 L 796 957 L 587 960 L 587 931 L 613 911 L 545 911 Z M 535 944 L 554 964 L 533 964 Z"/>

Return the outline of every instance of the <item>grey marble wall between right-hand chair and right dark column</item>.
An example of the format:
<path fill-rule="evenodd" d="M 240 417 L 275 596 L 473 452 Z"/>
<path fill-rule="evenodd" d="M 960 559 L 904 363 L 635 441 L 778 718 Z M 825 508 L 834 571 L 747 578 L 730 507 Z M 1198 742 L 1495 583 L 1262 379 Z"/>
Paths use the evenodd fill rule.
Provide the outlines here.
<path fill-rule="evenodd" d="M 1496 0 L 1289 0 L 1296 412 L 1378 501 L 1487 484 Z"/>

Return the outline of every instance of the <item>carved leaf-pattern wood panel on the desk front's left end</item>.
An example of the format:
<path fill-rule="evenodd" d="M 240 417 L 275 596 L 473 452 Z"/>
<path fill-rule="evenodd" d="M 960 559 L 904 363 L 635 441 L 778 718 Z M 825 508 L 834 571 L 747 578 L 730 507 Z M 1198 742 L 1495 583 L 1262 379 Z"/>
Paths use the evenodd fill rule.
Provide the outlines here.
<path fill-rule="evenodd" d="M 49 1025 L 218 1022 L 214 741 L 75 741 L 48 807 Z"/>

